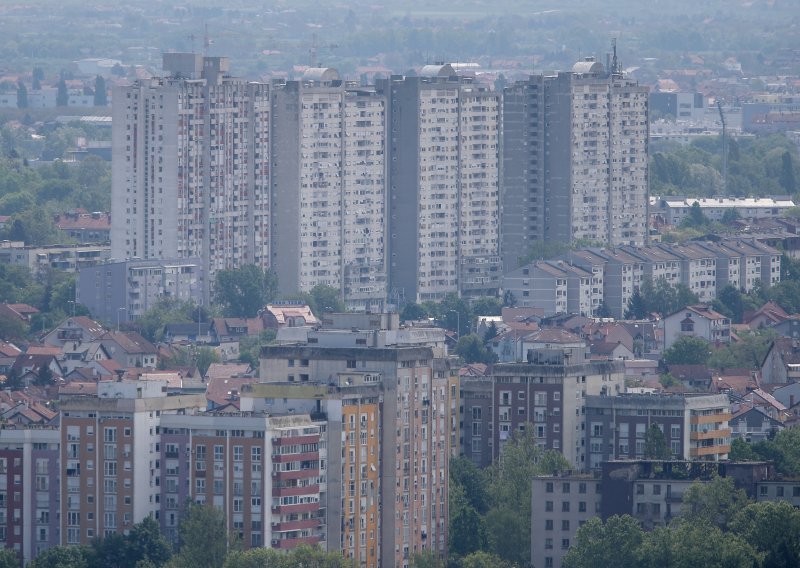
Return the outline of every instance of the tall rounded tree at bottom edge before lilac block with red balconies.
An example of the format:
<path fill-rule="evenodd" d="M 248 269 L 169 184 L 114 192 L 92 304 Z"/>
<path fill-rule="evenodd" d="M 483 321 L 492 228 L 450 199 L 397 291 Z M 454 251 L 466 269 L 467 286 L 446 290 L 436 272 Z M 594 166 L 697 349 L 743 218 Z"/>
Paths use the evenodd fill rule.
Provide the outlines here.
<path fill-rule="evenodd" d="M 178 526 L 180 549 L 172 562 L 177 568 L 222 566 L 228 554 L 225 513 L 212 505 L 189 503 Z"/>

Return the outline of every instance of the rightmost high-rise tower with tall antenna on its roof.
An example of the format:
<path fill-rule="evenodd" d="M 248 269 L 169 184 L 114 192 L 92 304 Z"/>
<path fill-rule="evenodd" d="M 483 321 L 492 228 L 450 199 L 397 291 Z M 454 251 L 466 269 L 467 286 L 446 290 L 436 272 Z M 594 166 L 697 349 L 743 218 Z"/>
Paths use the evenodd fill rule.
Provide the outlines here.
<path fill-rule="evenodd" d="M 648 90 L 616 67 L 587 58 L 505 89 L 506 270 L 538 239 L 644 244 Z"/>

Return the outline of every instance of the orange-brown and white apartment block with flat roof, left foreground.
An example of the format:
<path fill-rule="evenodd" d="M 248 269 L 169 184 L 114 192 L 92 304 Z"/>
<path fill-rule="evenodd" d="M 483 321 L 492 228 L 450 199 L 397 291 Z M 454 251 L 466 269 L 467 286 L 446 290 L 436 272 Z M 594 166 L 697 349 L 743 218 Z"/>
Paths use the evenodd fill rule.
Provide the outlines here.
<path fill-rule="evenodd" d="M 167 396 L 166 381 L 106 381 L 96 395 L 62 397 L 61 544 L 158 519 L 162 417 L 205 406 L 202 394 Z"/>

